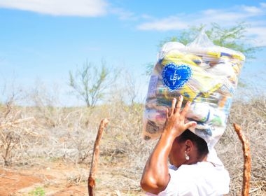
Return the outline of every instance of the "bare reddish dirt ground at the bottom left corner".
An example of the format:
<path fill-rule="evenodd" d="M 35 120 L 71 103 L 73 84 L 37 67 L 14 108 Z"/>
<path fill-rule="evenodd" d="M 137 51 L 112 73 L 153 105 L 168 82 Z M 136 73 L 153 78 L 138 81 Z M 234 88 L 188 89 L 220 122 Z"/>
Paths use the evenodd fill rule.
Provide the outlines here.
<path fill-rule="evenodd" d="M 67 177 L 77 176 L 75 168 L 62 163 L 46 168 L 8 169 L 0 167 L 0 195 L 34 195 L 36 188 L 45 191 L 45 195 L 87 195 L 87 183 L 71 182 Z M 77 185 L 76 185 L 77 184 Z"/>

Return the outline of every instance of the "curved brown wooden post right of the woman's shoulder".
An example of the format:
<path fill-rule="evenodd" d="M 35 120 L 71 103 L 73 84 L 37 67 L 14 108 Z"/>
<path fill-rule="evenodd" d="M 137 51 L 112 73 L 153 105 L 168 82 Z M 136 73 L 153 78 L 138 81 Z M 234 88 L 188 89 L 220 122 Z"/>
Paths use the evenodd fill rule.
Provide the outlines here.
<path fill-rule="evenodd" d="M 241 130 L 241 127 L 234 123 L 235 132 L 241 141 L 244 155 L 244 169 L 243 169 L 243 187 L 242 196 L 249 195 L 250 181 L 251 181 L 251 148 L 249 141 Z"/>

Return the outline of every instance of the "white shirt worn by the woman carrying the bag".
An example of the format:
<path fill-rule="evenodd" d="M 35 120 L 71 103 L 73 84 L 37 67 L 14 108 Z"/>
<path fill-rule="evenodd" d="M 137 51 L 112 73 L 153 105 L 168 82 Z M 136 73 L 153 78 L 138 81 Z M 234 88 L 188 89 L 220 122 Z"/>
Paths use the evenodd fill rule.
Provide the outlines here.
<path fill-rule="evenodd" d="M 197 162 L 169 167 L 170 181 L 160 196 L 220 196 L 229 193 L 230 176 L 223 165 Z M 147 195 L 153 195 L 147 193 Z"/>

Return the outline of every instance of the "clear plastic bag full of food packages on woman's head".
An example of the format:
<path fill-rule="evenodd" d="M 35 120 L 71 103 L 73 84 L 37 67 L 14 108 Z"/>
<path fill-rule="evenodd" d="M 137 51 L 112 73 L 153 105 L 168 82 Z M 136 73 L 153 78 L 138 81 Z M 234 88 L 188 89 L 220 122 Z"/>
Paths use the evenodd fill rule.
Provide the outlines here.
<path fill-rule="evenodd" d="M 209 149 L 213 148 L 225 131 L 244 60 L 241 52 L 214 45 L 204 31 L 188 45 L 165 43 L 148 85 L 143 138 L 160 137 L 167 107 L 182 94 L 183 106 L 191 102 L 186 120 L 197 122 L 190 131 L 207 141 Z"/>

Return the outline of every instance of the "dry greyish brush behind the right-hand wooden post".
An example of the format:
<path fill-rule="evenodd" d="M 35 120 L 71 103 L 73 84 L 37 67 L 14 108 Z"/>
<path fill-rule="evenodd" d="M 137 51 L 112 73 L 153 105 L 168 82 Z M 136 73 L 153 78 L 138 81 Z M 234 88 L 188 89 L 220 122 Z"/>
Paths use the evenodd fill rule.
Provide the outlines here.
<path fill-rule="evenodd" d="M 233 123 L 241 126 L 251 145 L 251 195 L 266 194 L 266 105 L 265 96 L 248 102 L 236 100 L 232 104 L 228 127 L 216 146 L 225 167 L 230 172 L 230 195 L 240 195 L 242 189 L 243 151 Z"/>

